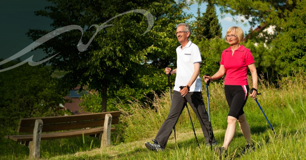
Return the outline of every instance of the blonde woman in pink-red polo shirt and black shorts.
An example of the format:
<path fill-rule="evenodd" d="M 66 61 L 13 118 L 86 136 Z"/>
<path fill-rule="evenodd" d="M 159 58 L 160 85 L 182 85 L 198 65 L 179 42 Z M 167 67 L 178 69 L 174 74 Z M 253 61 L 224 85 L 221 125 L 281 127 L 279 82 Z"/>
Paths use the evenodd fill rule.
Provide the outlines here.
<path fill-rule="evenodd" d="M 222 157 L 226 156 L 228 149 L 236 130 L 236 121 L 239 123 L 241 132 L 247 141 L 244 151 L 255 150 L 251 140 L 251 131 L 248 122 L 246 121 L 243 107 L 248 99 L 248 81 L 247 71 L 248 68 L 252 74 L 253 87 L 250 97 L 253 99 L 257 95 L 257 71 L 254 64 L 254 58 L 251 51 L 240 45 L 241 40 L 244 38 L 244 33 L 240 27 L 230 27 L 226 32 L 226 42 L 230 47 L 223 50 L 220 62 L 220 68 L 213 76 L 203 76 L 205 83 L 208 81 L 216 80 L 226 74 L 224 79 L 224 91 L 226 101 L 230 107 L 227 116 L 227 128 L 222 147 L 216 147 L 215 152 Z"/>

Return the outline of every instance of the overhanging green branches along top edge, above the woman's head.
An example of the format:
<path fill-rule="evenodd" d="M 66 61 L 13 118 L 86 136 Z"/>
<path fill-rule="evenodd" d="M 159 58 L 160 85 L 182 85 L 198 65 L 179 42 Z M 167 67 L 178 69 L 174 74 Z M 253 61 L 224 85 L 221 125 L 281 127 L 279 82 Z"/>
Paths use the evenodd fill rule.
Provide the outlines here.
<path fill-rule="evenodd" d="M 215 0 L 215 2 L 220 6 L 221 13 L 243 16 L 251 26 L 256 24 L 276 25 L 279 30 L 284 22 L 283 17 L 298 5 L 299 0 Z"/>

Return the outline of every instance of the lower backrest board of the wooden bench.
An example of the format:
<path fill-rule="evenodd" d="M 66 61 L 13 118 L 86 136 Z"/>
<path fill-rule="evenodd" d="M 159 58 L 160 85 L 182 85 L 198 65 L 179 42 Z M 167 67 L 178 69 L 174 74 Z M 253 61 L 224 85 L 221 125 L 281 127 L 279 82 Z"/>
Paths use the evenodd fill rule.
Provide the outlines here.
<path fill-rule="evenodd" d="M 119 118 L 112 119 L 112 125 L 118 124 Z M 70 129 L 80 129 L 80 128 L 88 128 L 88 127 L 98 127 L 104 125 L 103 120 L 95 120 L 95 121 L 80 121 L 80 122 L 72 122 L 72 123 L 63 123 L 63 124 L 47 124 L 45 125 L 45 121 L 43 120 L 43 130 L 42 132 L 54 132 L 54 131 L 62 131 L 62 130 L 70 130 Z M 34 126 L 19 126 L 18 132 L 20 133 L 31 133 L 33 132 Z"/>

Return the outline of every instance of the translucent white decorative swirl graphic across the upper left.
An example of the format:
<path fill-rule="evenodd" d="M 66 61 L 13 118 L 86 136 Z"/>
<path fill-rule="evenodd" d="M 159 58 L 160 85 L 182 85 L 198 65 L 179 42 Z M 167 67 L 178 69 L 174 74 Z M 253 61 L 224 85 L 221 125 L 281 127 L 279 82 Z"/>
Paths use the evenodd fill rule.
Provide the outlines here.
<path fill-rule="evenodd" d="M 91 25 L 89 28 L 95 27 L 95 28 L 96 28 L 96 32 L 95 32 L 95 34 L 91 37 L 91 39 L 88 41 L 87 44 L 83 44 L 83 43 L 82 43 L 83 28 L 81 28 L 81 27 L 78 26 L 78 25 L 68 25 L 68 26 L 65 26 L 65 27 L 62 27 L 62 28 L 58 28 L 58 29 L 56 29 L 56 30 L 54 30 L 54 31 L 51 31 L 51 32 L 49 32 L 48 34 L 42 36 L 41 38 L 37 39 L 35 42 L 31 43 L 30 45 L 28 45 L 27 47 L 25 47 L 25 48 L 22 49 L 21 51 L 17 52 L 17 53 L 14 54 L 13 56 L 11 56 L 11 57 L 9 57 L 9 58 L 7 58 L 7 59 L 1 61 L 1 62 L 0 62 L 0 65 L 3 65 L 3 64 L 5 64 L 5 63 L 7 63 L 7 62 L 9 62 L 9 61 L 12 61 L 12 60 L 16 59 L 16 58 L 19 58 L 19 57 L 21 57 L 22 55 L 28 53 L 29 51 L 35 49 L 35 48 L 38 47 L 39 45 L 41 45 L 41 44 L 47 42 L 48 40 L 50 40 L 50 39 L 52 39 L 52 38 L 54 38 L 54 37 L 56 37 L 56 36 L 58 36 L 58 35 L 60 35 L 60 34 L 62 34 L 62 33 L 65 33 L 65 32 L 68 32 L 68 31 L 71 31 L 71 30 L 74 30 L 74 29 L 77 29 L 77 30 L 81 31 L 81 33 L 82 33 L 81 38 L 80 38 L 80 40 L 79 40 L 79 43 L 78 43 L 78 45 L 77 45 L 77 49 L 78 49 L 80 52 L 83 52 L 83 51 L 85 51 L 85 50 L 88 48 L 88 46 L 90 45 L 91 41 L 95 38 L 95 36 L 98 34 L 98 32 L 100 32 L 103 28 L 106 28 L 106 27 L 109 27 L 109 26 L 114 26 L 113 24 L 107 24 L 107 25 L 106 25 L 106 23 L 108 23 L 110 20 L 113 20 L 113 19 L 116 18 L 116 17 L 119 17 L 119 16 L 124 15 L 124 14 L 127 14 L 127 13 L 141 13 L 141 14 L 143 14 L 143 15 L 147 18 L 147 20 L 148 20 L 148 28 L 147 28 L 147 30 L 146 30 L 143 34 L 141 34 L 141 35 L 146 34 L 146 33 L 153 27 L 154 18 L 153 18 L 152 14 L 151 14 L 150 12 L 148 12 L 147 10 L 144 10 L 144 9 L 134 9 L 134 10 L 130 10 L 130 11 L 121 13 L 121 14 L 119 14 L 119 15 L 117 15 L 117 16 L 115 16 L 115 17 L 109 19 L 109 20 L 107 20 L 107 21 L 104 22 L 102 25 L 97 25 L 97 24 Z M 5 68 L 5 69 L 1 69 L 0 72 L 7 71 L 7 70 L 10 70 L 10 69 L 16 68 L 16 67 L 18 67 L 18 66 L 20 66 L 20 65 L 23 65 L 23 64 L 27 63 L 27 62 L 28 62 L 28 64 L 31 65 L 31 66 L 39 65 L 39 64 L 42 64 L 42 63 L 44 63 L 44 62 L 50 60 L 51 58 L 55 57 L 55 56 L 58 55 L 59 53 L 60 53 L 60 52 L 58 52 L 57 54 L 54 54 L 53 56 L 48 57 L 48 58 L 46 58 L 46 59 L 44 59 L 44 60 L 38 61 L 38 62 L 34 62 L 34 61 L 33 61 L 33 56 L 34 56 L 34 55 L 32 55 L 32 56 L 30 56 L 29 58 L 27 58 L 26 60 L 24 60 L 24 61 L 22 61 L 22 62 L 20 62 L 20 63 L 18 63 L 18 64 L 16 64 L 16 65 L 10 66 L 10 67 Z"/>

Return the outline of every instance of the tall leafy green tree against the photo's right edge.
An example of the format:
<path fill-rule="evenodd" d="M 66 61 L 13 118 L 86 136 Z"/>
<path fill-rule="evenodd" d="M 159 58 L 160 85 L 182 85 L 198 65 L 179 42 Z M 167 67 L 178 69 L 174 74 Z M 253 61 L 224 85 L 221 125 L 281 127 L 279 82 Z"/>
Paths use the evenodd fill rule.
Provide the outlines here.
<path fill-rule="evenodd" d="M 306 1 L 302 0 L 287 17 L 283 31 L 273 42 L 273 52 L 278 53 L 277 72 L 292 76 L 294 71 L 306 71 Z"/>

